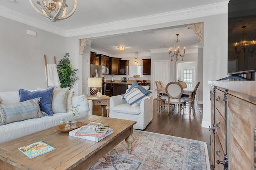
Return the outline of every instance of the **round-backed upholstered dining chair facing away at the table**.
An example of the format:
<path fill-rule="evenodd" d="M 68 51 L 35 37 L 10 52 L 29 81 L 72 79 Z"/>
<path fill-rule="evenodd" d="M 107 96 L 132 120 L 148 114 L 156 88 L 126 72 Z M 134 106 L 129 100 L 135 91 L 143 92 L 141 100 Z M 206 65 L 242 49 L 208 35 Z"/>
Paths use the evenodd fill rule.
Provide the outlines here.
<path fill-rule="evenodd" d="M 181 112 L 181 106 L 183 109 L 184 113 L 184 102 L 185 99 L 181 97 L 183 93 L 183 88 L 180 83 L 177 82 L 170 82 L 166 85 L 166 93 L 168 95 L 168 99 L 166 99 L 167 107 L 168 107 L 168 112 L 167 114 L 169 115 L 169 107 L 171 104 L 171 109 L 172 109 L 172 104 L 178 104 L 178 113 L 180 115 Z"/>

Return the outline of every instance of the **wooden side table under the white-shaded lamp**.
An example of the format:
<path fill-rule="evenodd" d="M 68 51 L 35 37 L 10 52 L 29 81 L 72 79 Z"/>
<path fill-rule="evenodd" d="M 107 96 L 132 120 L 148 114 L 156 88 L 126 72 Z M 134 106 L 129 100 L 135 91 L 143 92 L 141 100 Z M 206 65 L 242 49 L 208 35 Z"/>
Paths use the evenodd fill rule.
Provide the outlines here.
<path fill-rule="evenodd" d="M 107 110 L 107 117 L 109 115 L 109 96 L 102 95 L 100 97 L 98 96 L 86 96 L 88 100 L 92 100 L 93 106 L 101 106 L 101 116 L 104 116 L 104 106 L 106 106 Z"/>

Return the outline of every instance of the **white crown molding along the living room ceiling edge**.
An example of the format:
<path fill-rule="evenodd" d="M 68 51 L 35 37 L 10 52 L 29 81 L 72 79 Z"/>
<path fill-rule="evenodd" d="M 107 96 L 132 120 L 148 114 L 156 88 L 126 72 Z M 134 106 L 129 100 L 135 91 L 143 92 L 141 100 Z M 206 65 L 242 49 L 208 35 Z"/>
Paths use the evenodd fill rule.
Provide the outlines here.
<path fill-rule="evenodd" d="M 110 23 L 104 23 L 104 24 L 81 27 L 77 29 L 68 29 L 68 30 L 54 27 L 47 22 L 32 18 L 30 16 L 26 16 L 24 14 L 10 10 L 9 8 L 5 8 L 3 6 L 0 6 L 0 16 L 36 27 L 39 29 L 43 29 L 45 31 L 49 31 L 57 35 L 61 35 L 63 37 L 73 37 L 78 35 L 93 35 L 93 34 L 97 34 L 97 36 L 100 36 L 100 33 L 108 32 L 108 31 L 131 29 L 131 28 L 142 27 L 147 25 L 168 23 L 172 21 L 187 20 L 192 18 L 199 18 L 204 16 L 227 13 L 228 2 L 229 0 L 225 2 L 210 4 L 210 5 L 177 10 L 173 12 L 166 12 L 162 14 L 155 14 L 155 15 L 150 15 L 145 17 L 133 18 L 129 20 L 114 21 Z"/>

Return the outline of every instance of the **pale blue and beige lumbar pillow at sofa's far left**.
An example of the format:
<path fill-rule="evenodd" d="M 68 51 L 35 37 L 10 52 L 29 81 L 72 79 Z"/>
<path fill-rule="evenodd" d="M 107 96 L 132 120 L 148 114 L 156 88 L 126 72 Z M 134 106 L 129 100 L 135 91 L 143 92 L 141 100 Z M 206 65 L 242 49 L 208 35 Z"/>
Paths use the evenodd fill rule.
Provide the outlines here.
<path fill-rule="evenodd" d="M 0 125 L 42 117 L 40 98 L 12 104 L 0 104 Z"/>

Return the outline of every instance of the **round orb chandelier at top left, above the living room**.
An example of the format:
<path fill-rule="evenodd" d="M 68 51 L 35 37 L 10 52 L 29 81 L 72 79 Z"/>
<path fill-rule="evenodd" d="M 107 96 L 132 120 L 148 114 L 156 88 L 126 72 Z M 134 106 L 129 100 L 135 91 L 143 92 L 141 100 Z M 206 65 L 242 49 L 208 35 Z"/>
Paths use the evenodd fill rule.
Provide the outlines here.
<path fill-rule="evenodd" d="M 39 14 L 50 19 L 52 22 L 64 20 L 72 16 L 76 10 L 77 1 L 73 0 L 73 9 L 70 13 L 67 13 L 68 5 L 66 0 L 29 0 L 30 4 Z"/>

